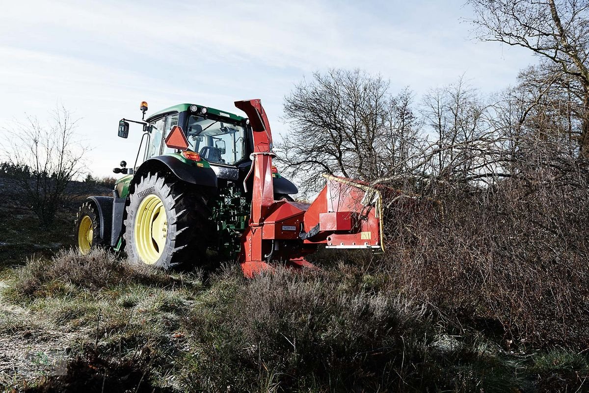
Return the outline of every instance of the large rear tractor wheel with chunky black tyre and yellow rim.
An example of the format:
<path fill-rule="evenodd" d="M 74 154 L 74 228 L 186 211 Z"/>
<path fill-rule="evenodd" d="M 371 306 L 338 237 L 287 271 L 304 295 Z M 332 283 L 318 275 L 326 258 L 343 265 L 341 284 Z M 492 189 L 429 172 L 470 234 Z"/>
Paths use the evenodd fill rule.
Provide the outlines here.
<path fill-rule="evenodd" d="M 125 251 L 131 260 L 164 269 L 202 265 L 210 218 L 203 195 L 173 176 L 147 174 L 130 195 Z"/>

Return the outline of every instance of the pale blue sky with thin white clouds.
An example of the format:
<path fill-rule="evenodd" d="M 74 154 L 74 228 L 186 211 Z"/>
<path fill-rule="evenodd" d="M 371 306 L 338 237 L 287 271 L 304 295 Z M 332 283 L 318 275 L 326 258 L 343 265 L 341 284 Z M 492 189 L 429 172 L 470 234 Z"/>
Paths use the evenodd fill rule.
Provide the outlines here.
<path fill-rule="evenodd" d="M 134 162 L 140 126 L 121 118 L 183 102 L 239 115 L 260 98 L 275 138 L 284 96 L 314 71 L 360 68 L 416 100 L 461 75 L 484 93 L 534 59 L 474 39 L 463 1 L 14 1 L 0 5 L 0 134 L 63 105 L 90 147 L 88 172 Z M 2 135 L 0 135 L 1 137 Z"/>

